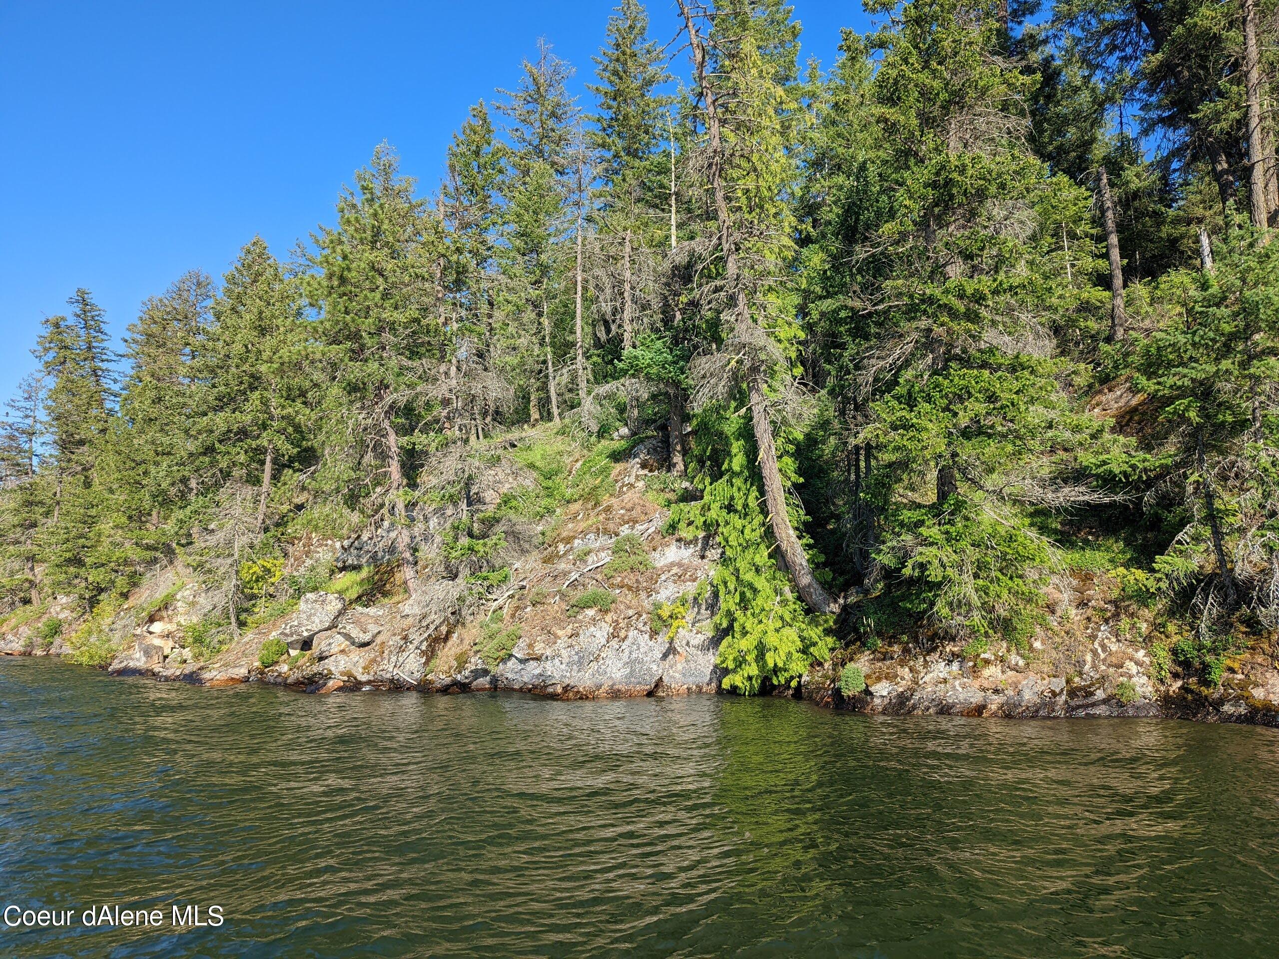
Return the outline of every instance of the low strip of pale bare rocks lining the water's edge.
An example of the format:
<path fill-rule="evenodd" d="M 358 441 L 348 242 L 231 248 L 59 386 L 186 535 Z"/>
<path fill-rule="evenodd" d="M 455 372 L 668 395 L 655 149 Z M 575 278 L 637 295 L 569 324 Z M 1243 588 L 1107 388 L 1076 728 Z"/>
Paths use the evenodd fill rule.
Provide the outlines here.
<path fill-rule="evenodd" d="M 688 581 L 675 575 L 668 583 Z M 581 699 L 719 690 L 718 643 L 705 630 L 707 609 L 693 612 L 692 624 L 669 639 L 655 637 L 647 619 L 634 611 L 619 621 L 587 610 L 563 634 L 521 637 L 509 655 L 489 664 L 464 630 L 436 630 L 432 641 L 421 616 L 405 605 L 348 607 L 340 596 L 308 595 L 288 620 L 246 634 L 210 661 L 188 662 L 180 648 L 143 635 L 120 652 L 109 671 L 206 687 L 262 682 L 308 693 L 508 690 Z M 294 662 L 262 666 L 257 661 L 262 644 L 281 635 L 297 646 Z M 60 642 L 40 648 L 15 639 L 0 635 L 0 655 L 68 652 Z M 840 670 L 826 664 L 813 667 L 797 693 L 778 694 L 870 715 L 1128 716 L 1279 728 L 1279 670 L 1261 657 L 1238 664 L 1220 687 L 1210 688 L 1192 679 L 1154 683 L 1149 653 L 1105 634 L 1087 655 L 1091 665 L 1081 675 L 1065 676 L 1046 675 L 1019 656 L 973 661 L 948 650 L 895 648 L 848 661 L 865 675 L 866 687 L 857 693 L 842 693 Z M 448 665 L 441 667 L 441 661 Z M 1126 682 L 1127 689 L 1120 687 Z"/>

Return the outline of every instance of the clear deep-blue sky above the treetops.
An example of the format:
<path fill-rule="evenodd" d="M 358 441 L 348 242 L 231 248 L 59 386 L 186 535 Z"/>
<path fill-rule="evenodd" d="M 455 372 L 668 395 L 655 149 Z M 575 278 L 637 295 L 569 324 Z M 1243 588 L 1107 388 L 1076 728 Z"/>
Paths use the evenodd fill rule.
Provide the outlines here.
<path fill-rule="evenodd" d="M 119 338 L 146 297 L 219 277 L 255 233 L 286 256 L 382 139 L 434 189 L 467 107 L 513 86 L 537 37 L 582 92 L 613 1 L 4 0 L 0 402 L 77 286 Z M 856 1 L 794 6 L 801 56 L 828 66 L 839 28 L 868 23 Z M 673 0 L 648 9 L 674 37 Z"/>

